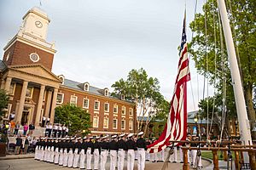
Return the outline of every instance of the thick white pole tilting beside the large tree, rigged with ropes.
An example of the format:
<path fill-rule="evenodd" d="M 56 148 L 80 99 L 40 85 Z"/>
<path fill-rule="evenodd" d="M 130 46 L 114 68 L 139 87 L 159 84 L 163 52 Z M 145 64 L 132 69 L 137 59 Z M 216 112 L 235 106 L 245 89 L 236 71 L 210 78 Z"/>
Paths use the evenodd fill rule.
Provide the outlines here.
<path fill-rule="evenodd" d="M 250 130 L 250 125 L 249 125 L 248 116 L 247 116 L 247 109 L 246 109 L 244 94 L 241 87 L 241 76 L 240 76 L 239 67 L 236 59 L 236 50 L 234 47 L 233 37 L 230 29 L 230 22 L 228 19 L 228 14 L 227 14 L 224 0 L 218 0 L 218 8 L 221 16 L 225 42 L 226 42 L 227 51 L 229 55 L 230 72 L 232 77 L 233 90 L 235 94 L 236 112 L 237 112 L 240 132 L 241 132 L 240 133 L 241 140 L 243 140 L 244 143 L 248 145 L 248 144 L 252 144 L 251 130 Z M 248 163 L 249 156 L 247 155 L 247 153 L 245 152 L 243 153 L 244 153 L 244 161 Z"/>

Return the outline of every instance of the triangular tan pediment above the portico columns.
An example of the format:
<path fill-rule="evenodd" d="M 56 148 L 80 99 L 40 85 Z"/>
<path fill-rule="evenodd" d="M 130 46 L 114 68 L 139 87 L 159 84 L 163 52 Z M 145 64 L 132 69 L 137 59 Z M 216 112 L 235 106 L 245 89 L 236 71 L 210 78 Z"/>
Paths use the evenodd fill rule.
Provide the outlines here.
<path fill-rule="evenodd" d="M 42 65 L 15 65 L 10 66 L 9 69 L 36 77 L 46 78 L 55 82 L 61 82 L 61 80 L 58 77 L 56 77 L 54 73 L 48 71 Z"/>

